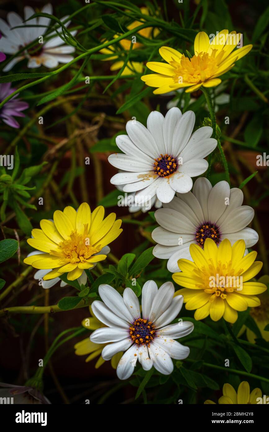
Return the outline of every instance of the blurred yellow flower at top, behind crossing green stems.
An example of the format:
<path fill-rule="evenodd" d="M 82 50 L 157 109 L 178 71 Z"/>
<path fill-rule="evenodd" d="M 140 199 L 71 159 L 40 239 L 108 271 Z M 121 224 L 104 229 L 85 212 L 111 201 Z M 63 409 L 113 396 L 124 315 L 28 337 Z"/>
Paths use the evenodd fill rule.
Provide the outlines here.
<path fill-rule="evenodd" d="M 147 7 L 141 7 L 140 10 L 141 10 L 141 13 L 143 13 L 143 15 L 149 15 L 149 11 L 148 11 Z M 141 21 L 134 21 L 130 25 L 127 26 L 127 29 L 128 30 L 136 29 L 136 27 L 141 25 L 141 22 L 144 22 L 144 20 L 141 19 Z M 155 28 L 153 30 L 153 27 L 147 27 L 146 29 L 139 30 L 138 35 L 141 35 L 144 38 L 150 39 L 152 34 L 154 37 L 156 37 L 156 35 L 158 35 L 159 33 L 160 33 L 160 31 L 158 29 Z M 114 35 L 113 37 L 117 38 L 118 35 Z M 129 49 L 131 48 L 131 40 L 129 40 L 129 39 L 122 39 L 121 41 L 119 41 L 119 44 L 122 46 L 122 48 L 125 51 L 129 51 Z M 142 46 L 143 46 L 143 44 L 141 44 L 140 42 L 136 42 L 135 44 L 133 44 L 132 49 L 135 50 L 137 48 L 141 48 Z M 108 57 L 103 61 L 115 60 L 115 59 L 119 58 L 119 56 L 117 55 L 117 53 L 115 51 L 114 45 L 110 45 L 107 48 L 103 48 L 102 50 L 100 50 L 100 52 L 102 54 L 112 54 L 111 57 Z M 114 55 L 114 53 L 115 53 L 115 55 Z M 110 70 L 111 71 L 119 70 L 123 66 L 123 64 L 124 64 L 123 60 L 118 60 L 118 61 L 113 63 L 113 65 L 110 67 Z M 124 70 L 122 71 L 121 76 L 132 75 L 132 74 L 134 74 L 134 71 L 138 72 L 138 73 L 142 73 L 143 63 L 140 63 L 137 61 L 132 61 L 132 62 L 128 61 Z"/>

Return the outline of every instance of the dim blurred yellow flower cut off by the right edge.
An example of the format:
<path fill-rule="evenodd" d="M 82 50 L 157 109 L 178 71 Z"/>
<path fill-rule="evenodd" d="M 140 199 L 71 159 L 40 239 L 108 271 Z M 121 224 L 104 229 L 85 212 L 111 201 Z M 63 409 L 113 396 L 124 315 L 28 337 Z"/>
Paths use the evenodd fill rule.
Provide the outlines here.
<path fill-rule="evenodd" d="M 264 276 L 261 276 L 260 279 L 258 279 L 258 282 L 264 283 L 265 285 L 269 284 L 269 276 L 266 274 Z M 263 292 L 263 294 L 260 295 L 260 306 L 256 308 L 250 309 L 250 315 L 252 316 L 253 320 L 256 322 L 261 335 L 266 342 L 269 342 L 269 331 L 264 330 L 264 327 L 269 324 L 269 294 L 268 291 Z M 244 331 L 247 329 L 247 340 L 251 343 L 255 343 L 256 334 L 250 330 L 248 327 L 243 325 L 240 332 L 238 333 L 238 337 L 241 336 L 241 334 L 244 333 Z"/>

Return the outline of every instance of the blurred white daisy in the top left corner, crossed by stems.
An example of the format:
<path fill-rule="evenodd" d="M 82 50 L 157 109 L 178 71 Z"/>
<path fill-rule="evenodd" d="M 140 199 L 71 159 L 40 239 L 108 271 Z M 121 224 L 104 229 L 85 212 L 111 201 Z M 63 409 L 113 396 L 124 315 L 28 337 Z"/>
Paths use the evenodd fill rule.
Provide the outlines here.
<path fill-rule="evenodd" d="M 50 3 L 45 5 L 42 13 L 48 13 L 52 15 L 53 8 Z M 24 19 L 30 18 L 34 15 L 34 9 L 30 6 L 24 8 Z M 64 21 L 68 16 L 64 16 L 61 21 Z M 6 54 L 16 54 L 22 47 L 28 45 L 30 42 L 39 38 L 47 32 L 47 26 L 50 24 L 50 19 L 45 17 L 33 18 L 29 21 L 23 21 L 22 18 L 15 12 L 9 12 L 7 14 L 7 22 L 0 18 L 0 32 L 3 37 L 0 39 L 0 51 Z M 66 22 L 67 27 L 71 21 Z M 30 25 L 36 25 L 37 27 L 29 27 Z M 40 25 L 40 27 L 38 27 Z M 14 29 L 14 27 L 23 26 Z M 62 29 L 58 29 L 58 33 L 62 34 Z M 72 35 L 76 34 L 76 31 L 70 32 Z M 64 45 L 63 39 L 61 39 L 56 32 L 50 33 L 50 38 L 44 44 L 37 43 L 36 46 L 29 48 L 22 52 L 19 57 L 13 58 L 4 68 L 3 72 L 7 72 L 12 69 L 13 66 L 20 60 L 25 58 L 28 59 L 28 67 L 40 67 L 43 64 L 46 67 L 52 68 L 58 66 L 59 63 L 68 63 L 74 57 L 70 55 L 75 51 L 74 47 Z"/>

